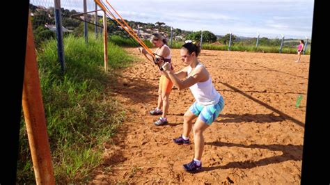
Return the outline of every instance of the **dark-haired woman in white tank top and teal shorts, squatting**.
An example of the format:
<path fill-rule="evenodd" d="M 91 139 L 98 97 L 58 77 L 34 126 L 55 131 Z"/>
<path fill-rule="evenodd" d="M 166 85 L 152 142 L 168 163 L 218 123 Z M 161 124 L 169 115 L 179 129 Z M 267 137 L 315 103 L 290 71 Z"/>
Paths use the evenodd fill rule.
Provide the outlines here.
<path fill-rule="evenodd" d="M 195 155 L 190 163 L 183 165 L 187 172 L 196 172 L 201 170 L 201 158 L 204 150 L 203 132 L 210 127 L 212 122 L 217 119 L 219 113 L 223 110 L 224 102 L 220 93 L 215 90 L 212 79 L 206 68 L 198 61 L 198 54 L 201 47 L 193 42 L 187 42 L 180 51 L 182 61 L 187 67 L 179 72 L 171 70 L 171 64 L 163 65 L 163 73 L 173 81 L 179 89 L 190 88 L 196 102 L 189 107 L 183 117 L 183 134 L 173 139 L 178 145 L 189 145 L 189 134 L 191 129 L 194 131 Z M 185 80 L 181 80 L 186 77 Z M 194 128 L 193 120 L 197 118 Z"/>

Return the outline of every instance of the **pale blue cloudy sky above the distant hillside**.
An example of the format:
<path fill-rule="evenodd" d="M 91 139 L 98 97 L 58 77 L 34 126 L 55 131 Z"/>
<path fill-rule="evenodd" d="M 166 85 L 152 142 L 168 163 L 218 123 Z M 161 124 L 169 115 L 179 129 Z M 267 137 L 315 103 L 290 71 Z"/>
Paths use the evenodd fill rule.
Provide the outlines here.
<path fill-rule="evenodd" d="M 38 0 L 45 1 L 45 0 Z M 103 0 L 106 2 L 105 0 Z M 108 1 L 124 18 L 136 22 L 164 22 L 174 29 L 211 31 L 216 35 L 233 33 L 260 38 L 311 38 L 312 0 L 118 0 Z M 82 0 L 61 0 L 65 6 L 79 6 Z M 88 11 L 94 10 L 88 0 Z"/>

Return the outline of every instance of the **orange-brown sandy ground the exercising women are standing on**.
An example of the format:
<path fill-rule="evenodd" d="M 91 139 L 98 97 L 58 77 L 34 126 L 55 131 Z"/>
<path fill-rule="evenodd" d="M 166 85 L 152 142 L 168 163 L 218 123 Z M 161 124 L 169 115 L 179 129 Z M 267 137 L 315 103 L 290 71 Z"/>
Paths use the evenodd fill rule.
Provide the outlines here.
<path fill-rule="evenodd" d="M 136 49 L 129 54 L 144 58 Z M 182 65 L 173 49 L 175 70 Z M 225 108 L 205 131 L 203 170 L 182 169 L 194 157 L 194 143 L 176 145 L 185 111 L 194 102 L 189 89 L 173 89 L 169 124 L 155 126 L 159 72 L 146 60 L 123 71 L 113 96 L 125 106 L 127 121 L 104 143 L 104 164 L 92 184 L 300 184 L 310 56 L 201 51 Z M 300 108 L 295 107 L 303 95 Z M 193 134 L 190 134 L 193 141 Z"/>

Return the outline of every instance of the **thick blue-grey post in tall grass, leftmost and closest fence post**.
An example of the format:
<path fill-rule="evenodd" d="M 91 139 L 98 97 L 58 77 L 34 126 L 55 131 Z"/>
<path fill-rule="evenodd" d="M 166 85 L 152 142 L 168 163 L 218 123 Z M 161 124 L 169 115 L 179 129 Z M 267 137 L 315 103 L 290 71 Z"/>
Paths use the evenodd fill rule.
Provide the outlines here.
<path fill-rule="evenodd" d="M 64 49 L 63 49 L 63 31 L 62 31 L 62 17 L 61 17 L 61 1 L 54 0 L 55 9 L 55 24 L 56 24 L 56 40 L 57 40 L 57 56 L 61 65 L 62 73 L 65 70 L 64 64 Z"/>

